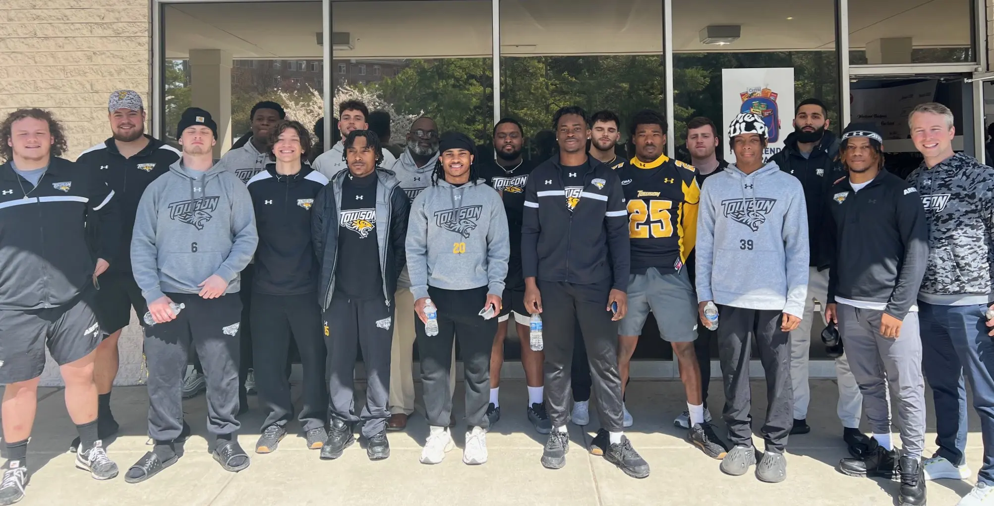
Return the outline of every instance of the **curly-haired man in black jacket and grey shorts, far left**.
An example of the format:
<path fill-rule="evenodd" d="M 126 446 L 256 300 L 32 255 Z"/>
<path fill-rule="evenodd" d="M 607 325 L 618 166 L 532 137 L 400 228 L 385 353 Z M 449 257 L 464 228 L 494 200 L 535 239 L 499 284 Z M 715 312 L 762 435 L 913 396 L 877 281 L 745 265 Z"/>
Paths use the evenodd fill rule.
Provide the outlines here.
<path fill-rule="evenodd" d="M 60 158 L 65 151 L 62 128 L 46 110 L 16 110 L 0 125 L 0 384 L 8 458 L 0 504 L 20 501 L 28 484 L 46 347 L 80 433 L 76 466 L 98 480 L 117 476 L 97 435 L 93 360 L 103 333 L 92 309 L 96 276 L 117 253 L 117 203 L 95 170 Z M 103 227 L 87 245 L 93 215 Z"/>

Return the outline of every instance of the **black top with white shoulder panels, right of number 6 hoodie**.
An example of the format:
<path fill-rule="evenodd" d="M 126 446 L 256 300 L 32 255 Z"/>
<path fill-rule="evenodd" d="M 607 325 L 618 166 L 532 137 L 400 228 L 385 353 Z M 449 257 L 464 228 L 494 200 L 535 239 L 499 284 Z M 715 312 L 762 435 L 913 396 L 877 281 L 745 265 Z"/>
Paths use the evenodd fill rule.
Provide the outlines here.
<path fill-rule="evenodd" d="M 318 261 L 311 241 L 314 199 L 328 178 L 307 164 L 291 176 L 270 163 L 248 180 L 255 209 L 255 275 L 251 290 L 266 295 L 317 291 Z"/>

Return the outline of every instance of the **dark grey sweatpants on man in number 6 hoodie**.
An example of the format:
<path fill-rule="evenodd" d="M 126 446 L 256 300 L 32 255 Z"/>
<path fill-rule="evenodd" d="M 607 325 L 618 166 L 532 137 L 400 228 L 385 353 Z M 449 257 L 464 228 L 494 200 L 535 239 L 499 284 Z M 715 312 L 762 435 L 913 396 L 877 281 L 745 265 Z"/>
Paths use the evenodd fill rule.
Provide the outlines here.
<path fill-rule="evenodd" d="M 186 306 L 175 320 L 145 329 L 148 435 L 171 441 L 183 429 L 183 374 L 192 344 L 207 376 L 207 429 L 228 439 L 240 427 L 236 417 L 242 300 L 237 293 L 211 299 L 196 293 L 166 295 Z"/>

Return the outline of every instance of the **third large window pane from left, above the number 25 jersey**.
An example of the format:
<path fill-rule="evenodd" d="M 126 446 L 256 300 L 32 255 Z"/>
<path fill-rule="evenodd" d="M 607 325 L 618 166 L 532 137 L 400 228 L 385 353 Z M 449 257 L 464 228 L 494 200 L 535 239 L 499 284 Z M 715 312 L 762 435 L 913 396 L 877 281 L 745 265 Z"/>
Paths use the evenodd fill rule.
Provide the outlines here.
<path fill-rule="evenodd" d="M 622 123 L 644 107 L 665 112 L 662 2 L 508 0 L 500 8 L 501 112 L 522 122 L 533 156 L 555 148 L 551 121 L 564 105 L 611 109 Z"/>

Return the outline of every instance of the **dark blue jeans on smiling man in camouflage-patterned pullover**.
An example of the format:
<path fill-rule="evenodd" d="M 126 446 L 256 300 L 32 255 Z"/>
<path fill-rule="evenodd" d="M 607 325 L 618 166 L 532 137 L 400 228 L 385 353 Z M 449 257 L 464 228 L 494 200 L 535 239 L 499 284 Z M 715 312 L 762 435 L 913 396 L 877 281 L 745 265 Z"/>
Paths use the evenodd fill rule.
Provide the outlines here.
<path fill-rule="evenodd" d="M 935 455 L 956 465 L 965 462 L 965 372 L 984 440 L 984 463 L 977 479 L 994 485 L 994 340 L 987 335 L 987 306 L 943 306 L 919 300 L 918 308 L 921 368 L 935 404 Z"/>

